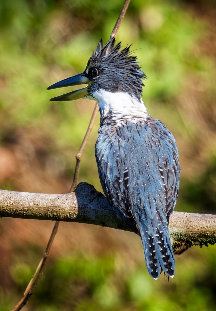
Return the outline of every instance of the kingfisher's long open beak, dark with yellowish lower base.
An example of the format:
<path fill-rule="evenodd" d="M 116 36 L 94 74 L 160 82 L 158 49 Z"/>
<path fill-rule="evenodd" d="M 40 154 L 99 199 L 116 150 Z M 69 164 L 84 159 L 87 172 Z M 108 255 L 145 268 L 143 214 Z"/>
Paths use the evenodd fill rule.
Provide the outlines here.
<path fill-rule="evenodd" d="M 87 77 L 84 76 L 83 73 L 80 73 L 76 76 L 64 79 L 62 81 L 59 81 L 57 83 L 54 83 L 53 85 L 49 86 L 47 90 L 57 89 L 59 87 L 65 87 L 65 86 L 73 86 L 73 85 L 79 85 L 79 84 L 91 84 L 92 81 L 89 80 Z M 73 92 L 69 92 L 67 94 L 63 94 L 57 97 L 50 98 L 52 101 L 67 101 L 67 100 L 75 100 L 82 98 L 85 95 L 88 95 L 87 87 L 76 90 Z"/>

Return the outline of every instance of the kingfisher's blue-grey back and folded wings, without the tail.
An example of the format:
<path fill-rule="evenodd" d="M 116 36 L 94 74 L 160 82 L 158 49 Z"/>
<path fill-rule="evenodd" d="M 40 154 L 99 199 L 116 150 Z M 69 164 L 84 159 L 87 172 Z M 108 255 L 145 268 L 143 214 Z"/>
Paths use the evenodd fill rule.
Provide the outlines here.
<path fill-rule="evenodd" d="M 148 214 L 153 204 L 171 215 L 180 167 L 175 139 L 162 122 L 106 126 L 99 133 L 95 153 L 102 188 L 120 218 L 131 217 L 128 204 L 134 213 L 143 206 L 142 212 Z"/>

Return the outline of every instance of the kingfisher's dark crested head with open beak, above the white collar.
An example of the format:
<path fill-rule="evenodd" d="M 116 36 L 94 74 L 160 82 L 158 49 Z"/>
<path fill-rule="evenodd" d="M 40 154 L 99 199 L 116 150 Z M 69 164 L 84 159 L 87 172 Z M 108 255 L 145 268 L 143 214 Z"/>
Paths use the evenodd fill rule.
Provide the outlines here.
<path fill-rule="evenodd" d="M 84 72 L 59 81 L 47 90 L 65 86 L 88 84 L 87 87 L 54 98 L 52 101 L 76 100 L 88 98 L 98 100 L 101 90 L 111 93 L 124 92 L 140 101 L 143 79 L 136 56 L 130 54 L 130 46 L 121 49 L 121 42 L 115 45 L 115 38 L 109 39 L 103 47 L 102 39 L 89 58 Z"/>

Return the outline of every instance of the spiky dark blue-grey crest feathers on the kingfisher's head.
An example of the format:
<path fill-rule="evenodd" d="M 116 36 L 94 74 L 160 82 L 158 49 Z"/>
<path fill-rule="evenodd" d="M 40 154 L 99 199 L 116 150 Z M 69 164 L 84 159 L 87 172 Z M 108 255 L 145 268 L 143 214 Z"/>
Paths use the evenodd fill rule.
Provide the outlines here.
<path fill-rule="evenodd" d="M 101 38 L 89 58 L 84 74 L 88 76 L 88 72 L 96 67 L 101 72 L 101 78 L 97 80 L 101 88 L 127 92 L 140 100 L 144 86 L 142 80 L 146 75 L 140 70 L 137 57 L 131 55 L 130 45 L 120 49 L 121 42 L 115 45 L 115 38 L 110 38 L 104 47 Z"/>

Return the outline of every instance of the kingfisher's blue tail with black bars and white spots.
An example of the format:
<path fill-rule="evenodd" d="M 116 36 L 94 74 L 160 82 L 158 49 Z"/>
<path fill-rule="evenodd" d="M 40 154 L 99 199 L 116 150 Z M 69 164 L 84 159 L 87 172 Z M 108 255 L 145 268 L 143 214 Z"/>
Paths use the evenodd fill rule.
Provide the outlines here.
<path fill-rule="evenodd" d="M 148 273 L 157 280 L 162 270 L 173 277 L 175 274 L 175 258 L 171 247 L 167 224 L 156 226 L 138 225 L 143 242 Z"/>

